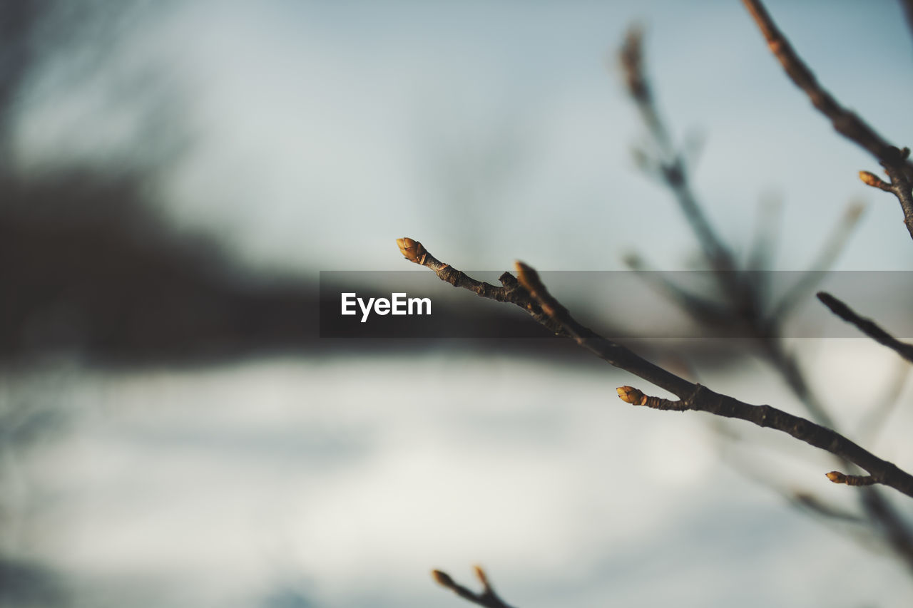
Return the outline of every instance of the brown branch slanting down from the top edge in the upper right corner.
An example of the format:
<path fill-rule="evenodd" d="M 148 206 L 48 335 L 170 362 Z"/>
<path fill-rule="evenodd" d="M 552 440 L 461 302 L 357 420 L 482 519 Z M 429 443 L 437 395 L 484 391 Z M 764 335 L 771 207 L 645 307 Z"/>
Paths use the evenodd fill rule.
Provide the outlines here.
<path fill-rule="evenodd" d="M 907 148 L 900 150 L 897 146 L 887 142 L 866 121 L 859 118 L 855 112 L 846 110 L 834 99 L 833 95 L 821 86 L 812 70 L 795 52 L 789 40 L 783 36 L 780 28 L 773 23 L 773 19 L 761 4 L 761 0 L 742 0 L 742 4 L 748 9 L 761 30 L 761 34 L 767 40 L 767 46 L 770 47 L 773 56 L 780 61 L 792 82 L 803 89 L 803 92 L 812 101 L 812 105 L 831 121 L 835 131 L 866 149 L 885 168 L 888 177 L 891 178 L 890 192 L 897 196 L 904 213 L 904 224 L 907 225 L 910 237 L 913 238 L 913 194 L 911 194 L 913 164 L 908 161 L 909 150 Z M 869 174 L 871 175 L 871 173 Z M 866 177 L 862 179 L 866 181 Z M 866 183 L 869 182 L 866 181 Z M 869 185 L 874 184 L 869 183 Z"/>

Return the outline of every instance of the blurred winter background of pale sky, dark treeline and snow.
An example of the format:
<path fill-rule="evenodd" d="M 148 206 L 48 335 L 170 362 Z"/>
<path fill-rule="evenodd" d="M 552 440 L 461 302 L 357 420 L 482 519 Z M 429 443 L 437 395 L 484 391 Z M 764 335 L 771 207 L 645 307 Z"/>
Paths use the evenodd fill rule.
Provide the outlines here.
<path fill-rule="evenodd" d="M 897 3 L 769 8 L 826 88 L 913 142 Z M 410 269 L 400 236 L 467 269 L 622 269 L 633 252 L 696 267 L 674 202 L 631 159 L 645 129 L 614 53 L 635 22 L 660 109 L 703 142 L 695 187 L 733 249 L 779 199 L 773 267 L 803 270 L 861 200 L 836 268 L 913 269 L 897 201 L 856 176 L 876 163 L 813 111 L 740 3 L 86 1 L 43 15 L 0 133 L 0 204 L 31 218 L 23 248 L 4 249 L 0 298 L 40 303 L 7 314 L 0 370 L 3 605 L 456 606 L 428 572 L 468 582 L 475 563 L 519 606 L 909 605 L 897 561 L 765 484 L 850 504 L 810 447 L 622 404 L 616 386 L 650 387 L 582 351 L 326 341 L 306 305 L 320 270 Z M 112 234 L 140 253 L 121 257 Z M 121 257 L 110 280 L 94 262 L 47 270 L 96 249 Z M 169 279 L 195 268 L 185 259 L 232 287 Z M 142 310 L 124 320 L 96 286 L 127 278 Z M 64 292 L 79 297 L 55 304 Z M 586 304 L 598 329 L 611 311 Z M 802 412 L 750 356 L 650 348 L 721 393 Z M 903 370 L 863 339 L 792 348 L 851 438 Z M 907 469 L 911 399 L 902 389 L 866 441 Z"/>

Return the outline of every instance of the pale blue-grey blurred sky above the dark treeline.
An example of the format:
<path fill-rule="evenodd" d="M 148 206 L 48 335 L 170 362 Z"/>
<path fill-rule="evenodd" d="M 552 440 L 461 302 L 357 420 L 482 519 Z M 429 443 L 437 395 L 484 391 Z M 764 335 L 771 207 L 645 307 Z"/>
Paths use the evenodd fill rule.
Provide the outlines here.
<path fill-rule="evenodd" d="M 913 141 L 897 3 L 770 4 L 828 89 Z M 687 267 L 693 237 L 629 153 L 644 129 L 614 52 L 634 22 L 675 134 L 705 140 L 696 188 L 733 246 L 780 196 L 776 262 L 802 269 L 860 198 L 839 267 L 911 266 L 897 202 L 856 176 L 876 162 L 815 113 L 735 1 L 176 3 L 98 78 L 37 100 L 21 142 L 33 162 L 104 157 L 130 132 L 122 82 L 142 66 L 177 100 L 161 128 L 192 138 L 167 175 L 174 217 L 258 267 L 402 268 L 398 236 L 467 268 L 616 268 L 633 250 Z"/>

